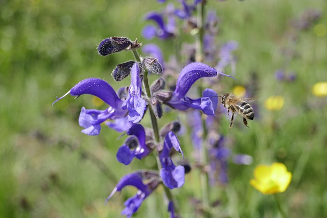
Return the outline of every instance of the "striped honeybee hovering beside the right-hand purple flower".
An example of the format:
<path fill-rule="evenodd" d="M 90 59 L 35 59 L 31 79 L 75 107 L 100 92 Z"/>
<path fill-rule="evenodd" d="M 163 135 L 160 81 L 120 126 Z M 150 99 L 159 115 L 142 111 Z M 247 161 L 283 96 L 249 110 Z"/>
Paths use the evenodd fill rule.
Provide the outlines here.
<path fill-rule="evenodd" d="M 253 111 L 253 108 L 251 107 L 251 105 L 249 105 L 245 101 L 253 102 L 254 100 L 250 99 L 250 98 L 242 99 L 232 93 L 224 93 L 219 96 L 221 98 L 221 104 L 223 104 L 225 108 L 227 107 L 228 115 L 229 115 L 229 110 L 232 113 L 231 118 L 230 118 L 230 123 L 229 123 L 229 130 L 233 125 L 234 114 L 236 112 L 238 112 L 239 114 L 241 114 L 243 116 L 243 123 L 246 127 L 248 127 L 246 119 L 253 120 L 254 111 Z"/>

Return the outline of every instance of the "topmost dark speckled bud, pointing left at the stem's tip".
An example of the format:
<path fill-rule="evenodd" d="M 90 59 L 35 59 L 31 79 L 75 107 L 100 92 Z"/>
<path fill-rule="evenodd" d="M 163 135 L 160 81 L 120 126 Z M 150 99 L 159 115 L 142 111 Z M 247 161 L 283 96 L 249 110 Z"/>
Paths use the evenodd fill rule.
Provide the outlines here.
<path fill-rule="evenodd" d="M 102 40 L 98 46 L 99 55 L 106 56 L 115 52 L 120 52 L 132 44 L 126 37 L 110 37 Z"/>

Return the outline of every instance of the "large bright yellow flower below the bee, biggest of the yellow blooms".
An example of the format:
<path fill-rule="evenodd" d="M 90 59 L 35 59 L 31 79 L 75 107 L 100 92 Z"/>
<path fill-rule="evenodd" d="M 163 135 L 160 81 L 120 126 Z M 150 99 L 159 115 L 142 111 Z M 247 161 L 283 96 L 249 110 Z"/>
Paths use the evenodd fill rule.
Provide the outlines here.
<path fill-rule="evenodd" d="M 287 171 L 283 163 L 258 165 L 253 175 L 250 184 L 265 195 L 284 192 L 292 179 L 292 173 Z"/>

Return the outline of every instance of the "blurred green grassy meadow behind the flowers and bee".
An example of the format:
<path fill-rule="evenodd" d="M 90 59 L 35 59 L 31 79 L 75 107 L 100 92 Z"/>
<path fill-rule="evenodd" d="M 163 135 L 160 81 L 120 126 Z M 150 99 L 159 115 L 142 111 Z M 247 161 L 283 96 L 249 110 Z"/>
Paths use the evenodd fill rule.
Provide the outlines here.
<path fill-rule="evenodd" d="M 217 217 L 279 217 L 273 197 L 249 185 L 253 168 L 272 162 L 285 163 L 293 174 L 287 191 L 278 195 L 289 217 L 327 217 L 327 99 L 311 91 L 316 82 L 327 81 L 327 2 L 208 0 L 208 5 L 220 18 L 218 41 L 239 42 L 237 81 L 224 78 L 221 92 L 236 85 L 258 87 L 258 116 L 250 128 L 242 126 L 240 116 L 229 132 L 227 116 L 220 125 L 219 132 L 232 139 L 232 152 L 251 155 L 253 163 L 230 162 L 229 183 L 213 187 Z M 116 161 L 124 140 L 116 141 L 120 134 L 109 128 L 94 137 L 80 132 L 80 108 L 95 107 L 91 96 L 67 96 L 51 104 L 88 77 L 107 80 L 114 88 L 128 85 L 113 82 L 110 75 L 116 64 L 133 59 L 132 53 L 101 57 L 97 44 L 109 36 L 149 43 L 141 35 L 144 15 L 160 7 L 155 0 L 0 1 L 0 217 L 121 216 L 134 188 L 116 193 L 106 206 L 104 200 L 122 176 L 144 163 Z M 321 17 L 293 43 L 290 20 L 306 9 L 319 10 Z M 168 60 L 172 41 L 151 42 L 161 46 Z M 285 48 L 296 55 L 289 58 Z M 295 81 L 275 79 L 283 67 L 296 74 Z M 264 107 L 272 95 L 284 96 L 281 110 Z M 192 159 L 186 136 L 180 137 L 181 147 Z M 151 166 L 151 161 L 145 162 Z M 201 197 L 199 173 L 192 171 L 185 180 L 173 192 L 183 217 L 197 217 L 190 202 Z M 159 187 L 134 217 L 168 217 L 163 202 Z"/>

